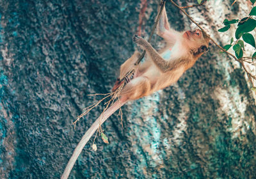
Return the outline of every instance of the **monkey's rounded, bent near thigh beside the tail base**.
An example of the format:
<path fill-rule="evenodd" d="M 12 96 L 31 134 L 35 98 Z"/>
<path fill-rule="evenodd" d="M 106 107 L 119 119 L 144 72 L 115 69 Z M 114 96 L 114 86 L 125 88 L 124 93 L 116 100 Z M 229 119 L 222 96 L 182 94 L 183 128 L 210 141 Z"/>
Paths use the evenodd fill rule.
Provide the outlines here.
<path fill-rule="evenodd" d="M 124 86 L 120 96 L 125 100 L 136 100 L 147 96 L 150 92 L 150 88 L 150 81 L 147 77 L 136 77 Z"/>

